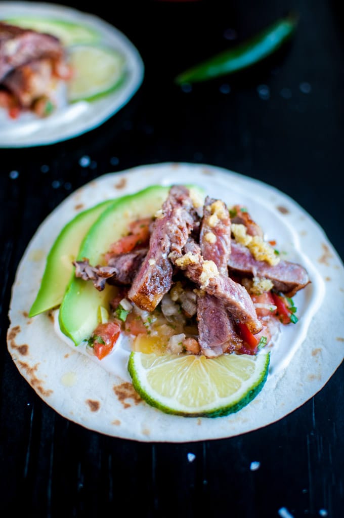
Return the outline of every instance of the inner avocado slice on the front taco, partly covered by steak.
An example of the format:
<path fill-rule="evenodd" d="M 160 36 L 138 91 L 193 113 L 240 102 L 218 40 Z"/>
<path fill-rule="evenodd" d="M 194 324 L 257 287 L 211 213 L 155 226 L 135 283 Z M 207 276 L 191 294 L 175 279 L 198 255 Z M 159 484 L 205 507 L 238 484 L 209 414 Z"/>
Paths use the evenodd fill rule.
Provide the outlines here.
<path fill-rule="evenodd" d="M 92 266 L 101 264 L 110 244 L 128 232 L 128 225 L 152 217 L 167 198 L 169 187 L 153 185 L 136 194 L 117 199 L 108 207 L 85 235 L 77 260 L 88 258 Z M 107 284 L 101 292 L 92 282 L 72 278 L 59 311 L 62 332 L 76 345 L 87 340 L 99 323 L 99 307 L 108 308 L 117 288 Z"/>

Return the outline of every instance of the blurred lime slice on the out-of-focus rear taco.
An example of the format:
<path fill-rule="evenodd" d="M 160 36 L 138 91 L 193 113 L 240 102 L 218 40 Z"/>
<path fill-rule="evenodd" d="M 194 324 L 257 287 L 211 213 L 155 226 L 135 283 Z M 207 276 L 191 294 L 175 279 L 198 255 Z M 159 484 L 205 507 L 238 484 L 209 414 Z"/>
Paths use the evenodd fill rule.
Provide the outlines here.
<path fill-rule="evenodd" d="M 125 58 L 114 49 L 78 45 L 69 49 L 73 77 L 68 83 L 68 100 L 94 100 L 122 84 Z"/>

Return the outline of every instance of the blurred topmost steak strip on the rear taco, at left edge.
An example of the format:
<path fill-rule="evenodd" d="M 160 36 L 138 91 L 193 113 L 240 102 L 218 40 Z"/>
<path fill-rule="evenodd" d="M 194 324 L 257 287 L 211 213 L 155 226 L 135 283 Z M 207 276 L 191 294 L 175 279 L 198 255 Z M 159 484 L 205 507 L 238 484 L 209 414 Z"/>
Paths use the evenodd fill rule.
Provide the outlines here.
<path fill-rule="evenodd" d="M 0 22 L 0 82 L 12 70 L 31 61 L 59 61 L 63 47 L 58 38 Z"/>

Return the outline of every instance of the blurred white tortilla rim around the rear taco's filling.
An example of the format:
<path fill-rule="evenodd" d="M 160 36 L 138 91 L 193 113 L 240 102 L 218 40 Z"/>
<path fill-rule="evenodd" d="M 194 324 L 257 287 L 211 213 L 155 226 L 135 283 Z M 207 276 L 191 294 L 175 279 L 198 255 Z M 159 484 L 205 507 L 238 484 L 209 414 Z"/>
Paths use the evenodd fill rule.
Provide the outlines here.
<path fill-rule="evenodd" d="M 99 44 L 119 50 L 126 59 L 127 77 L 120 87 L 91 103 L 61 104 L 47 119 L 26 113 L 9 119 L 0 108 L 0 148 L 43 146 L 93 130 L 120 110 L 136 93 L 144 78 L 144 63 L 130 40 L 104 20 L 70 7 L 29 2 L 0 2 L 0 19 L 37 16 L 86 25 L 101 35 Z"/>

